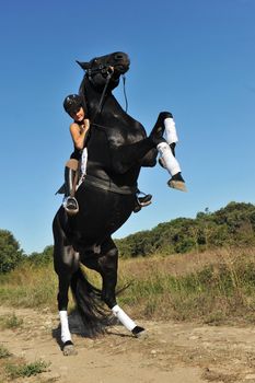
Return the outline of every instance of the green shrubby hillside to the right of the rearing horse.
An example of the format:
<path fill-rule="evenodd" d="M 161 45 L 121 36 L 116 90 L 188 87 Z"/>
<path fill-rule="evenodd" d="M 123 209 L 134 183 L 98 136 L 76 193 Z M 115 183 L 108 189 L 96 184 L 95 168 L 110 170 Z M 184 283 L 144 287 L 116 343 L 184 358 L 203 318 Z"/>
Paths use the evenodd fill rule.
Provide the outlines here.
<path fill-rule="evenodd" d="M 206 209 L 195 219 L 177 218 L 115 242 L 121 257 L 251 246 L 255 244 L 255 206 L 230 202 L 215 212 Z"/>

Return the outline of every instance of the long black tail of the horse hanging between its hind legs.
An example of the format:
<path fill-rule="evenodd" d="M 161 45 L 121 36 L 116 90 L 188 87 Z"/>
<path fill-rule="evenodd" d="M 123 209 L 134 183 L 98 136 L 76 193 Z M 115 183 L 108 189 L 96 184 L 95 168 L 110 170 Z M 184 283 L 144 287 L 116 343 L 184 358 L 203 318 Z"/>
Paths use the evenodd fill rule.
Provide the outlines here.
<path fill-rule="evenodd" d="M 112 313 L 106 311 L 101 300 L 101 290 L 92 286 L 79 268 L 71 279 L 71 291 L 78 312 L 89 336 L 102 334 L 111 324 Z"/>

